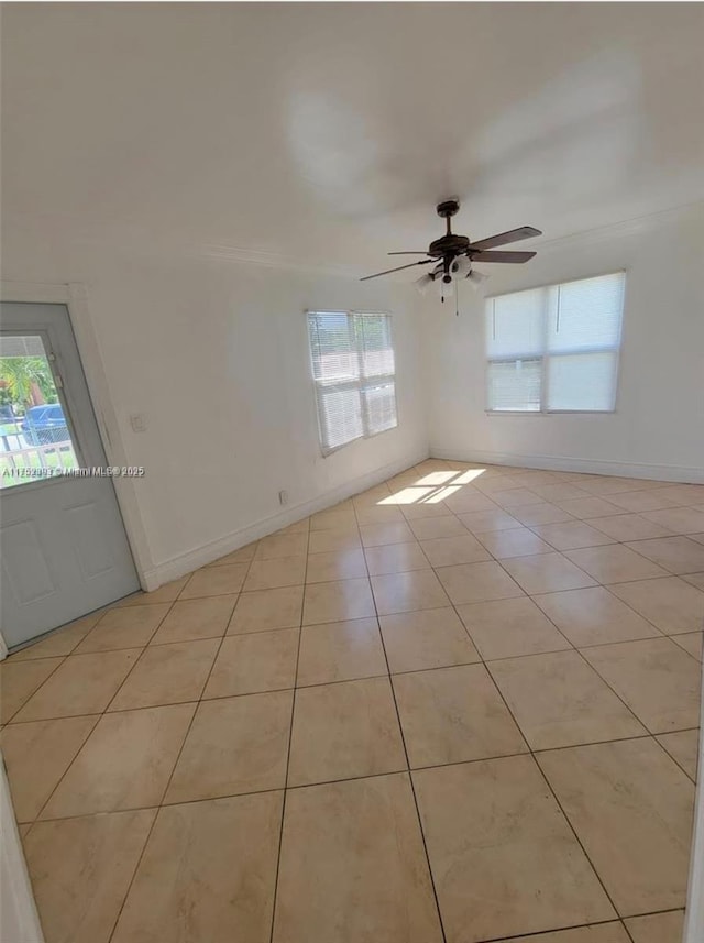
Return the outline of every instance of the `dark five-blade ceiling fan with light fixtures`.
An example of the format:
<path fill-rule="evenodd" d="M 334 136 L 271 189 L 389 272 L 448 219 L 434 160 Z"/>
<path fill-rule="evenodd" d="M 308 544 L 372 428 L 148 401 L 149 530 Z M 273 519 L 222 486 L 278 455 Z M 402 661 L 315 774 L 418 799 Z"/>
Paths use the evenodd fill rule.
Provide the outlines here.
<path fill-rule="evenodd" d="M 507 245 L 509 242 L 542 235 L 540 230 L 534 229 L 532 226 L 521 226 L 519 229 L 512 229 L 498 235 L 490 235 L 488 239 L 480 239 L 479 242 L 470 242 L 466 235 L 457 235 L 451 229 L 450 219 L 460 209 L 459 200 L 444 200 L 438 204 L 436 209 L 438 216 L 447 221 L 448 228 L 444 235 L 430 243 L 427 252 L 388 253 L 389 255 L 427 255 L 428 259 L 410 262 L 408 265 L 399 265 L 396 268 L 386 268 L 384 272 L 376 272 L 374 275 L 365 275 L 360 281 L 367 282 L 370 278 L 378 278 L 380 275 L 389 275 L 392 272 L 413 268 L 415 265 L 432 265 L 432 271 L 426 270 L 418 279 L 419 287 L 425 287 L 436 279 L 439 279 L 441 285 L 447 286 L 457 278 L 481 282 L 486 276 L 473 271 L 474 262 L 528 262 L 536 254 L 535 252 L 492 252 L 487 250 L 492 250 L 495 245 Z"/>

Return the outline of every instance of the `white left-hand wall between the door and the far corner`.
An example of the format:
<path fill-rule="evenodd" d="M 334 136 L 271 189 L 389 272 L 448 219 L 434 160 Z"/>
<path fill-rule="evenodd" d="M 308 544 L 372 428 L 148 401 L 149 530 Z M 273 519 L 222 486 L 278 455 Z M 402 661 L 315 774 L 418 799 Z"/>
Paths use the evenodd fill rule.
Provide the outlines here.
<path fill-rule="evenodd" d="M 150 588 L 427 454 L 409 288 L 23 237 L 6 240 L 4 282 L 87 285 L 117 416 L 112 454 L 146 469 L 134 497 Z M 322 458 L 304 311 L 348 307 L 394 314 L 399 426 Z M 132 431 L 133 413 L 146 432 Z"/>

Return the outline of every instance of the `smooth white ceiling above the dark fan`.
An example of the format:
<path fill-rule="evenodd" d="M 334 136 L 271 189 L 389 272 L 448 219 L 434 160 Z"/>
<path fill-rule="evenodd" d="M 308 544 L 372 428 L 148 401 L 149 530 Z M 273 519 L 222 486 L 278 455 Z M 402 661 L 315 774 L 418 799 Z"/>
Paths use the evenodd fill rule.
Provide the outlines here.
<path fill-rule="evenodd" d="M 701 3 L 18 3 L 3 213 L 355 268 L 704 198 Z M 265 256 L 263 256 L 265 257 Z"/>

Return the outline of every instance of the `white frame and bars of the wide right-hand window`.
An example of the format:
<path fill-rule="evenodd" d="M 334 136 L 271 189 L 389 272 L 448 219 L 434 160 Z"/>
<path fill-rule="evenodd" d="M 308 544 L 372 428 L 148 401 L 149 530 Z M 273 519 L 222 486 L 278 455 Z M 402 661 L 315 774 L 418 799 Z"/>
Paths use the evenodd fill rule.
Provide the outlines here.
<path fill-rule="evenodd" d="M 560 351 L 559 354 L 548 351 L 548 318 L 543 319 L 542 324 L 542 351 L 540 353 L 526 354 L 524 360 L 540 361 L 540 408 L 539 409 L 492 409 L 488 402 L 488 364 L 490 363 L 514 363 L 520 360 L 520 355 L 515 357 L 487 357 L 487 337 L 486 337 L 486 318 L 484 318 L 484 412 L 487 416 L 564 416 L 564 415 L 584 415 L 584 416 L 610 416 L 617 412 L 618 394 L 620 388 L 620 352 L 624 335 L 624 318 L 626 316 L 626 293 L 628 289 L 628 272 L 626 268 L 614 268 L 609 272 L 597 272 L 594 275 L 580 275 L 576 278 L 563 278 L 561 282 L 543 282 L 540 285 L 530 285 L 525 288 L 516 288 L 514 292 L 502 292 L 501 295 L 488 295 L 485 301 L 493 301 L 495 298 L 501 298 L 505 295 L 519 294 L 520 292 L 532 292 L 538 288 L 557 288 L 558 293 L 562 285 L 571 285 L 574 282 L 587 282 L 590 278 L 603 278 L 607 275 L 624 275 L 624 297 L 620 312 L 620 324 L 618 327 L 618 340 L 616 344 L 610 347 L 587 348 L 573 351 Z M 615 353 L 616 354 L 616 382 L 614 384 L 614 406 L 612 409 L 550 409 L 548 408 L 549 390 L 548 390 L 548 361 L 551 357 L 570 357 L 580 353 Z"/>

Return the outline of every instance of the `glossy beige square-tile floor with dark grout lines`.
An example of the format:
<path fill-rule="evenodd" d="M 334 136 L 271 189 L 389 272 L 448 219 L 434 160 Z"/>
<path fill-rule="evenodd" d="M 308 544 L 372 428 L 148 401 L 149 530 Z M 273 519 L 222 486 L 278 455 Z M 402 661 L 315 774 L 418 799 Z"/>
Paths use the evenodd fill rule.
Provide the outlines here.
<path fill-rule="evenodd" d="M 704 486 L 429 460 L 11 656 L 47 943 L 679 943 L 703 586 Z"/>

